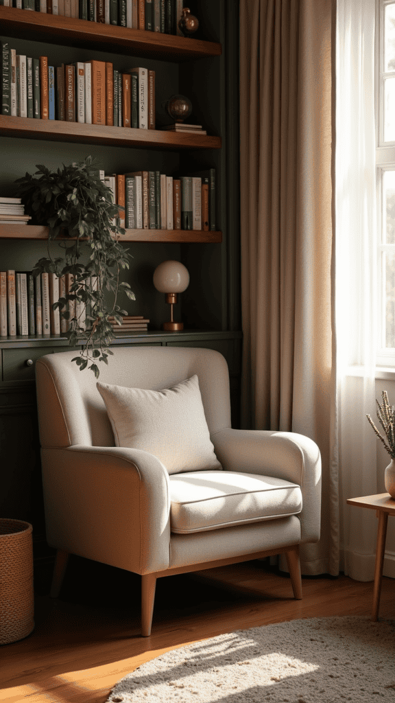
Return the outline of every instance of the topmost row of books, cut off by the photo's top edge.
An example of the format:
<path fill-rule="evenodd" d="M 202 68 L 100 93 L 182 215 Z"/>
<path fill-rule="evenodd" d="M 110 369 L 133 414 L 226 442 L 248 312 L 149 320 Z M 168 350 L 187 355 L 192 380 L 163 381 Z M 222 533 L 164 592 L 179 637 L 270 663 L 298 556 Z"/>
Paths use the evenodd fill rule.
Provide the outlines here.
<path fill-rule="evenodd" d="M 183 36 L 183 0 L 0 0 L 0 5 Z"/>

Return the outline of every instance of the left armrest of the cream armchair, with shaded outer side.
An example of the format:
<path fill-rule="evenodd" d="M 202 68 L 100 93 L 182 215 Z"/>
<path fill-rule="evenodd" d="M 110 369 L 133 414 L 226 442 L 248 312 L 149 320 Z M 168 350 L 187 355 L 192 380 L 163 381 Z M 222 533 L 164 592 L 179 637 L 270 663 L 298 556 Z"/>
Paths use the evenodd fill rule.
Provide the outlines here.
<path fill-rule="evenodd" d="M 58 549 L 146 574 L 169 567 L 169 475 L 139 449 L 41 449 L 46 532 Z"/>

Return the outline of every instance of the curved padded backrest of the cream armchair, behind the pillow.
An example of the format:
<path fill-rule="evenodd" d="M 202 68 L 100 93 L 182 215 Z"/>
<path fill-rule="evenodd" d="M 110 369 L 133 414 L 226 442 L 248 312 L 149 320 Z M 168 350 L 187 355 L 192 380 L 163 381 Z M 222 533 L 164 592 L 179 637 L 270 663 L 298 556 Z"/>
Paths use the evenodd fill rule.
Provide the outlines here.
<path fill-rule="evenodd" d="M 112 347 L 100 380 L 124 387 L 160 390 L 197 374 L 210 434 L 231 427 L 228 366 L 212 349 Z M 42 356 L 36 363 L 42 447 L 114 446 L 114 436 L 94 374 L 71 360 L 78 352 Z"/>

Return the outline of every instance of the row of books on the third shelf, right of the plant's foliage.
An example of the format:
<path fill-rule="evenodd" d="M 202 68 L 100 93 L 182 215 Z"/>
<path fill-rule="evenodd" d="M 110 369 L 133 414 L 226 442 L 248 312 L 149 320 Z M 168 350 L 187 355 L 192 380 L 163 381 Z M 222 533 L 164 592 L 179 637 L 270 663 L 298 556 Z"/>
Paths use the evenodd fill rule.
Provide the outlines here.
<path fill-rule="evenodd" d="M 216 169 L 188 176 L 160 171 L 103 175 L 119 209 L 119 225 L 128 229 L 216 229 Z"/>

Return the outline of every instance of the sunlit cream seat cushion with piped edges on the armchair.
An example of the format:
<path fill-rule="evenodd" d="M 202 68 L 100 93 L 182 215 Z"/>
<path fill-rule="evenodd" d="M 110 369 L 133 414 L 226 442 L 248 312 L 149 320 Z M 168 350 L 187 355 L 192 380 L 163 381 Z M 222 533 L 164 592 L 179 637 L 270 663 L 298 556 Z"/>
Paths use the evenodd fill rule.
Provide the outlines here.
<path fill-rule="evenodd" d="M 283 479 L 235 471 L 173 474 L 170 524 L 176 534 L 221 529 L 297 515 L 300 486 Z"/>

